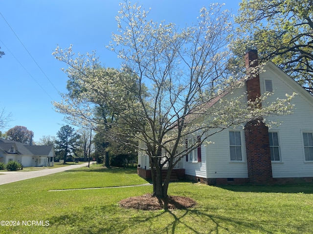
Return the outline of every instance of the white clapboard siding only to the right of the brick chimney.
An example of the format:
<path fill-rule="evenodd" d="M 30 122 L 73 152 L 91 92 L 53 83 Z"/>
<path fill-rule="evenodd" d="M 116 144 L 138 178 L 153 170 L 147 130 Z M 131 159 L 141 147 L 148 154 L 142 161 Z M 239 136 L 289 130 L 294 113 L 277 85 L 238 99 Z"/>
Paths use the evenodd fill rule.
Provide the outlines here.
<path fill-rule="evenodd" d="M 275 73 L 270 66 L 265 67 L 266 71 L 260 74 L 261 92 L 264 93 L 265 79 L 272 80 L 273 97 L 285 98 L 285 94 L 291 95 L 296 92 L 293 86 L 297 86 L 283 73 Z M 289 79 L 289 80 L 288 80 Z M 292 81 L 292 82 L 290 82 Z M 301 91 L 301 87 L 300 91 Z M 268 117 L 268 120 L 280 120 L 278 127 L 269 131 L 278 132 L 280 137 L 280 162 L 272 162 L 273 178 L 286 177 L 311 177 L 313 176 L 313 161 L 306 162 L 304 157 L 304 146 L 302 131 L 313 132 L 313 98 L 305 98 L 301 93 L 296 95 L 291 104 L 294 104 L 293 114 L 289 116 Z"/>

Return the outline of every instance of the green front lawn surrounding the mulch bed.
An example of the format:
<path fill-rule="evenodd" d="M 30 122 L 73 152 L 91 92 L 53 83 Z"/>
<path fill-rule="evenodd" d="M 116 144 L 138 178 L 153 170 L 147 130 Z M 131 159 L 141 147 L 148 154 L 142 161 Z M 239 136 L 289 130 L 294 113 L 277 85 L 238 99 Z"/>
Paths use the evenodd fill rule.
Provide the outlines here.
<path fill-rule="evenodd" d="M 20 221 L 20 226 L 0 226 L 0 234 L 312 233 L 313 184 L 171 183 L 170 195 L 188 196 L 198 203 L 175 211 L 118 206 L 124 198 L 151 193 L 152 186 L 48 192 L 144 183 L 134 169 L 93 165 L 0 185 L 0 220 Z M 22 220 L 48 221 L 49 226 L 22 226 Z"/>

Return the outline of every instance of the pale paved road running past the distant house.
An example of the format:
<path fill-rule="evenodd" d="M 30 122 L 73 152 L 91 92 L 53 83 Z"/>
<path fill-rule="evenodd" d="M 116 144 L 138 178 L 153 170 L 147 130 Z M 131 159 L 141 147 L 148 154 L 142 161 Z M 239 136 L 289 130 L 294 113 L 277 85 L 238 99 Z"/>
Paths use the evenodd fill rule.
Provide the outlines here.
<path fill-rule="evenodd" d="M 12 182 L 16 182 L 16 181 L 20 181 L 20 180 L 24 180 L 24 179 L 35 178 L 35 177 L 39 177 L 39 176 L 46 176 L 46 175 L 50 175 L 50 174 L 54 174 L 54 173 L 58 173 L 58 172 L 64 172 L 64 171 L 75 169 L 75 168 L 86 167 L 87 165 L 88 165 L 88 163 L 84 163 L 84 164 L 70 165 L 70 166 L 66 166 L 66 167 L 43 169 L 40 171 L 16 172 L 16 173 L 0 175 L 0 185 L 12 183 Z"/>

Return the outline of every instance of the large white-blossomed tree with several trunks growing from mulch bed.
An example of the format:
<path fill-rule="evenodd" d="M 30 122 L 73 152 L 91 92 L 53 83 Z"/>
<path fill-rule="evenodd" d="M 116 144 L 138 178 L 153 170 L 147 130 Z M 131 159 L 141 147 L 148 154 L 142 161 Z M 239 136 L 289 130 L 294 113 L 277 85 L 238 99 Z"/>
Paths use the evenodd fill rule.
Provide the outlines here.
<path fill-rule="evenodd" d="M 93 72 L 87 80 L 80 76 L 84 96 L 90 98 L 88 105 L 82 101 L 86 99 L 73 100 L 68 95 L 54 105 L 72 119 L 92 122 L 94 116 L 86 115 L 90 101 L 99 100 L 114 115 L 114 121 L 102 122 L 110 132 L 107 136 L 149 156 L 154 195 L 163 198 L 167 197 L 171 171 L 183 156 L 223 129 L 262 116 L 289 113 L 290 98 L 278 99 L 263 109 L 247 107 L 244 96 L 206 108 L 219 95 L 241 85 L 234 82 L 238 77 L 227 68 L 231 58 L 226 48 L 232 30 L 229 13 L 222 5 L 212 4 L 201 9 L 194 25 L 180 29 L 173 23 L 153 22 L 148 14 L 137 4 L 121 3 L 116 17 L 119 31 L 108 46 L 123 59 L 120 73 L 103 76 L 101 70 L 85 66 L 82 56 L 74 58 L 71 47 L 57 48 L 54 55 L 67 63 L 69 77 Z M 255 105 L 261 101 L 265 99 L 259 98 Z M 133 137 L 142 144 L 126 142 Z M 195 137 L 198 141 L 189 141 L 186 147 L 186 139 Z M 162 150 L 166 152 L 163 161 Z M 164 165 L 168 170 L 162 181 Z"/>

